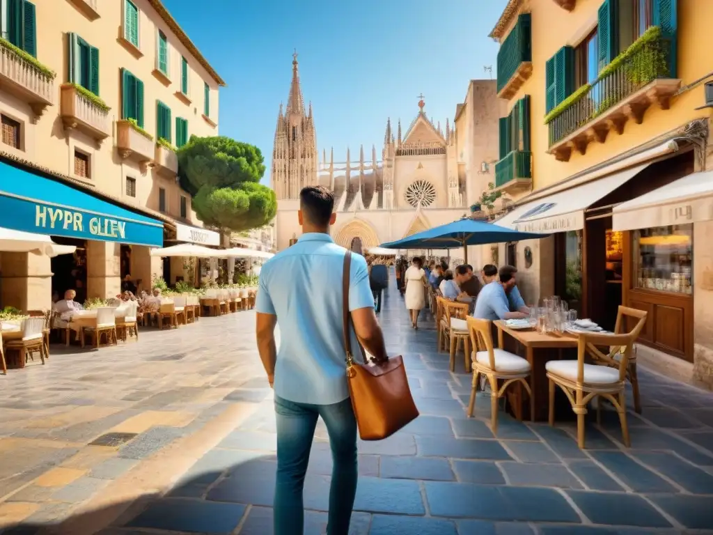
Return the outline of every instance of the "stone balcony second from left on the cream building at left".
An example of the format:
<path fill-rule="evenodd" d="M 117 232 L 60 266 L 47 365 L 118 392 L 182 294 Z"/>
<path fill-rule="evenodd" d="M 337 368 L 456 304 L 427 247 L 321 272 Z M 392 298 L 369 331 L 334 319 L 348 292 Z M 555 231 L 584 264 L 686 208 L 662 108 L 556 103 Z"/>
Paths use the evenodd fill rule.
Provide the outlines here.
<path fill-rule="evenodd" d="M 111 136 L 110 108 L 98 101 L 97 97 L 92 98 L 85 94 L 85 91 L 71 83 L 64 83 L 61 86 L 62 122 L 67 130 L 76 128 L 92 136 L 101 146 L 101 142 Z"/>

